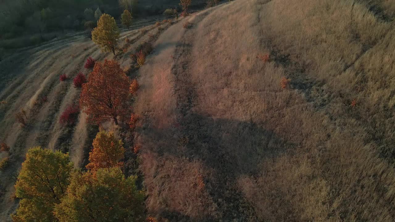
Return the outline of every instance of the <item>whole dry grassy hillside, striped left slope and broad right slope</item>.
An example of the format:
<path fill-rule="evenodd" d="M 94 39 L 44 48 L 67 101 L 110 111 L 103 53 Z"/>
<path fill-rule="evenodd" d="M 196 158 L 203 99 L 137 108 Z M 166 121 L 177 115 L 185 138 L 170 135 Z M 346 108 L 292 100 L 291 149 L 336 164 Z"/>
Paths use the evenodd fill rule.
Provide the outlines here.
<path fill-rule="evenodd" d="M 386 0 L 234 0 L 122 32 L 131 51 L 155 36 L 145 65 L 128 73 L 141 118 L 130 136 L 137 162 L 126 159 L 125 171 L 139 164 L 147 212 L 159 221 L 394 221 L 394 16 Z M 129 53 L 116 57 L 125 70 Z M 83 113 L 72 130 L 58 124 L 79 98 L 58 79 L 88 74 L 88 56 L 114 58 L 74 36 L 0 62 L 0 135 L 13 152 L 0 174 L 0 220 L 16 207 L 12 175 L 28 147 L 62 149 L 85 166 L 98 129 Z M 29 128 L 15 122 L 21 108 L 37 110 Z"/>

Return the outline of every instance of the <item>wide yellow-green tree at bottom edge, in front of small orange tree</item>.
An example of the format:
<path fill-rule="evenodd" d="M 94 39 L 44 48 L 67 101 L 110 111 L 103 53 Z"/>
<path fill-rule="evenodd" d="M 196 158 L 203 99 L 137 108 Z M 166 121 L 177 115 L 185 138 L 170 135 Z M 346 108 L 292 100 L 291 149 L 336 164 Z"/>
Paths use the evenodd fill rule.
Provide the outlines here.
<path fill-rule="evenodd" d="M 75 173 L 67 195 L 55 206 L 55 217 L 60 222 L 143 221 L 144 194 L 137 190 L 136 179 L 125 179 L 118 167 Z"/>

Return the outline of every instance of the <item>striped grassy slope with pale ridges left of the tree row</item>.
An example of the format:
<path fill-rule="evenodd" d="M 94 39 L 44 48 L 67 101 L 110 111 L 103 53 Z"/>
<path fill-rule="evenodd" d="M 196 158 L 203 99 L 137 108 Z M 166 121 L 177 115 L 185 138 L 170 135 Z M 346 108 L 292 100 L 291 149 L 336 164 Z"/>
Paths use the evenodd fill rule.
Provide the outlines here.
<path fill-rule="evenodd" d="M 117 56 L 122 66 L 131 66 L 129 54 L 141 41 L 147 40 L 150 33 L 158 32 L 158 28 L 152 25 L 154 23 L 152 19 L 135 21 L 131 31 L 121 32 L 121 49 L 125 47 L 125 38 L 134 42 L 128 53 Z M 151 32 L 139 32 L 142 26 Z M 167 26 L 163 24 L 161 27 Z M 60 125 L 59 119 L 68 105 L 78 103 L 80 89 L 73 87 L 72 79 L 79 71 L 88 74 L 89 71 L 83 68 L 88 56 L 96 60 L 114 58 L 112 54 L 101 53 L 85 36 L 76 35 L 26 48 L 0 62 L 0 101 L 7 102 L 0 107 L 0 140 L 4 139 L 11 147 L 10 163 L 0 171 L 0 221 L 10 220 L 9 214 L 17 207 L 17 201 L 10 198 L 14 192 L 13 175 L 20 168 L 29 147 L 70 151 L 75 166 L 85 166 L 92 134 L 96 135 L 97 127 L 89 126 L 83 113 L 73 127 Z M 68 79 L 60 82 L 59 75 L 63 73 Z M 46 100 L 41 100 L 44 97 Z M 15 113 L 21 108 L 28 113 L 28 126 L 25 128 L 15 122 Z M 5 153 L 0 154 L 0 158 L 5 156 Z"/>

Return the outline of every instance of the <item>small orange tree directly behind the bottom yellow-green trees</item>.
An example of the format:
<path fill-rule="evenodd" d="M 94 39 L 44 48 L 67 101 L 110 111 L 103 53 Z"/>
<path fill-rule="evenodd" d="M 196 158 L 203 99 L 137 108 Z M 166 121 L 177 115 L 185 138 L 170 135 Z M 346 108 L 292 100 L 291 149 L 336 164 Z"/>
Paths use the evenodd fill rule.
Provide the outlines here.
<path fill-rule="evenodd" d="M 89 152 L 89 164 L 86 166 L 92 171 L 100 168 L 122 166 L 119 162 L 124 157 L 125 149 L 121 140 L 115 138 L 113 132 L 100 130 L 93 140 L 92 152 Z"/>

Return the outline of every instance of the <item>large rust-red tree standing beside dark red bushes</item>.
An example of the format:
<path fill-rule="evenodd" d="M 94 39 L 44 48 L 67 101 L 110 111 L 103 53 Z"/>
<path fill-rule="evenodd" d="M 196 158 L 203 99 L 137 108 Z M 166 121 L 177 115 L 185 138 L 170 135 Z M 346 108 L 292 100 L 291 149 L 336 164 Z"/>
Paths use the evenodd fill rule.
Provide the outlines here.
<path fill-rule="evenodd" d="M 130 81 L 115 60 L 96 62 L 88 83 L 82 85 L 79 104 L 92 122 L 113 119 L 126 113 L 123 106 L 129 94 Z"/>

